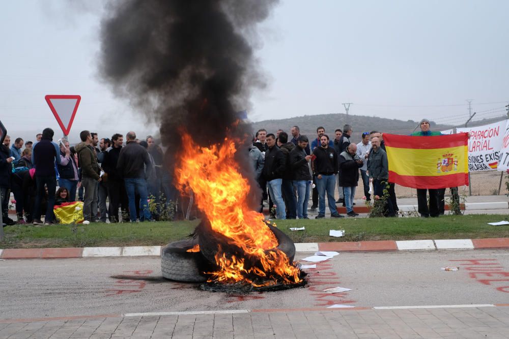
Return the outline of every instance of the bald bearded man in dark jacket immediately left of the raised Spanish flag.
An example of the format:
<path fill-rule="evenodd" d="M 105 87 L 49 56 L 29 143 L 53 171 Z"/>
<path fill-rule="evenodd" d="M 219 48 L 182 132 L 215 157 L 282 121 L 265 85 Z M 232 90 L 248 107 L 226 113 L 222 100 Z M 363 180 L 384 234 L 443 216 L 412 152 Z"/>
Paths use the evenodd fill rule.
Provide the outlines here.
<path fill-rule="evenodd" d="M 373 196 L 383 198 L 383 190 L 388 185 L 389 162 L 387 161 L 387 153 L 380 146 L 380 143 L 378 137 L 371 139 L 371 150 L 367 157 L 367 172 L 370 174 L 370 181 L 373 182 Z M 388 197 L 386 206 L 384 206 L 384 215 L 396 217 L 394 206 Z"/>

